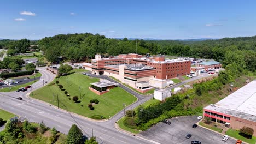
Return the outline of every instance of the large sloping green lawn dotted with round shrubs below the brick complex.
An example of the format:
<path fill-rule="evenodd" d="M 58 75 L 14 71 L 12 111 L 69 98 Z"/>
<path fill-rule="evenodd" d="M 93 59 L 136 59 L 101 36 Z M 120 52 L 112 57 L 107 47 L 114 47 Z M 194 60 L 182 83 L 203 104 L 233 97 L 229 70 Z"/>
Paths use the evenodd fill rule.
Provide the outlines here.
<path fill-rule="evenodd" d="M 57 106 L 57 95 L 59 95 L 59 106 L 61 109 L 66 109 L 90 118 L 94 115 L 100 115 L 106 118 L 109 118 L 109 116 L 112 117 L 115 113 L 123 109 L 123 103 L 125 103 L 125 105 L 130 105 L 137 100 L 136 97 L 127 93 L 120 87 L 115 87 L 111 89 L 110 92 L 103 95 L 97 95 L 94 92 L 91 92 L 89 87 L 90 83 L 98 82 L 99 79 L 82 74 L 61 76 L 59 79 L 55 79 L 54 82 L 56 80 L 60 82 L 59 85 L 61 84 L 63 89 L 66 89 L 65 91 L 67 91 L 71 97 L 67 97 L 64 93 L 65 91 L 61 91 L 56 84 L 51 85 L 51 83 L 34 91 L 32 97 Z M 69 87 L 67 86 L 67 80 Z M 75 95 L 80 97 L 79 86 L 82 99 L 79 98 L 79 100 L 81 100 L 80 103 L 74 103 L 72 97 Z M 71 98 L 71 100 L 68 98 Z M 99 104 L 94 105 L 95 110 L 90 110 L 87 107 L 92 99 L 98 99 L 100 101 Z"/>

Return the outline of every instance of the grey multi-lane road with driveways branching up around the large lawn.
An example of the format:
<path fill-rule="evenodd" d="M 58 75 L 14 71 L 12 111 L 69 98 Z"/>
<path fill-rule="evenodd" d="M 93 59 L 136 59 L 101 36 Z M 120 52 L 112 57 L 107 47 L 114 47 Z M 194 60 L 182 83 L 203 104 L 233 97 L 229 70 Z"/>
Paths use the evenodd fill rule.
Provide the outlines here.
<path fill-rule="evenodd" d="M 54 80 L 55 75 L 51 74 L 48 70 L 45 70 L 45 67 L 40 67 L 37 69 L 39 69 L 40 73 L 42 73 L 44 81 L 51 82 Z M 92 76 L 114 81 L 109 77 L 103 75 Z M 195 80 L 199 78 L 201 77 L 193 77 L 192 79 L 189 79 L 187 81 L 192 81 L 193 79 Z M 177 85 L 170 88 L 183 85 L 187 81 L 178 83 Z M 153 95 L 140 95 L 132 91 L 130 88 L 121 85 L 121 83 L 119 83 L 119 86 L 138 98 L 138 101 L 130 106 L 127 106 L 126 110 L 131 109 L 131 107 L 141 105 L 142 103 L 153 97 Z M 33 91 L 40 87 L 43 87 L 43 79 L 40 79 L 32 85 Z M 91 119 L 86 119 L 85 117 L 76 115 L 74 113 L 69 113 L 65 110 L 56 109 L 56 107 L 51 106 L 48 103 L 44 103 L 43 101 L 27 98 L 26 94 L 32 92 L 32 89 L 27 92 L 0 93 L 0 109 L 9 111 L 23 118 L 27 118 L 30 122 L 40 123 L 43 121 L 48 127 L 56 127 L 57 130 L 64 134 L 68 133 L 69 128 L 72 124 L 77 124 L 80 129 L 83 130 L 86 137 L 92 136 L 93 129 L 93 135 L 97 137 L 97 141 L 100 143 L 156 143 L 154 141 L 142 139 L 141 137 L 126 134 L 115 129 L 115 122 L 123 117 L 123 112 L 121 111 L 117 113 L 117 115 L 110 118 L 108 121 L 91 121 Z M 23 100 L 18 100 L 16 99 L 17 97 L 22 97 Z"/>

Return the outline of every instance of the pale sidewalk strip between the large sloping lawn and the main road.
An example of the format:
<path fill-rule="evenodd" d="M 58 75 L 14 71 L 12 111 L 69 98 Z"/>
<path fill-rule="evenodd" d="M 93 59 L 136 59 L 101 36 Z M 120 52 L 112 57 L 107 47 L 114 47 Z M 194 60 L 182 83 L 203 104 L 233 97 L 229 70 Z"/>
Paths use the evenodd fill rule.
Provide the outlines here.
<path fill-rule="evenodd" d="M 96 119 L 88 118 L 88 117 L 85 117 L 85 116 L 78 115 L 77 113 L 73 113 L 73 112 L 71 112 L 71 111 L 67 111 L 67 110 L 64 110 L 64 109 L 61 109 L 61 108 L 57 108 L 57 106 L 52 105 L 52 104 L 50 104 L 50 103 L 47 103 L 47 102 L 45 102 L 45 101 L 43 101 L 43 100 L 39 100 L 39 99 L 30 97 L 30 93 L 27 93 L 27 94 L 26 94 L 26 97 L 27 97 L 28 99 L 33 99 L 33 100 L 40 101 L 41 103 L 47 104 L 47 105 L 49 105 L 49 106 L 51 106 L 51 107 L 54 107 L 55 109 L 58 109 L 58 110 L 61 110 L 61 111 L 65 111 L 65 112 L 71 113 L 72 115 L 78 116 L 78 117 L 80 117 L 80 118 L 87 119 L 88 121 L 91 121 L 91 122 L 106 122 L 106 121 L 108 121 L 108 119 L 96 120 Z"/>

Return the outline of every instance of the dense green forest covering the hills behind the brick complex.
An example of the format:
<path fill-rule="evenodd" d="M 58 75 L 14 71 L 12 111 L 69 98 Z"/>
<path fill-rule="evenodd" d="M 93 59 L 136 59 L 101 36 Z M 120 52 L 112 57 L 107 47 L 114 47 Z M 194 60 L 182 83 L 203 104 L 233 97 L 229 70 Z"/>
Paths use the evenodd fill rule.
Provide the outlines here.
<path fill-rule="evenodd" d="M 115 56 L 119 53 L 138 53 L 144 55 L 172 55 L 214 59 L 222 62 L 224 67 L 236 63 L 249 71 L 256 69 L 256 36 L 223 38 L 203 41 L 179 40 L 123 40 L 106 38 L 104 35 L 59 34 L 45 37 L 38 41 L 0 40 L 0 48 L 8 49 L 9 55 L 25 52 L 28 43 L 38 44 L 40 50 L 50 62 L 58 61 L 58 57 L 71 61 L 89 61 L 96 54 Z M 25 46 L 24 46 L 25 45 Z M 25 48 L 24 48 L 25 47 Z M 24 50 L 25 49 L 25 50 Z M 13 52 L 14 51 L 14 52 Z"/>

